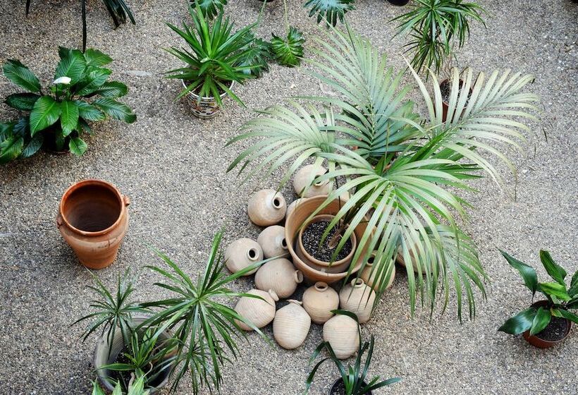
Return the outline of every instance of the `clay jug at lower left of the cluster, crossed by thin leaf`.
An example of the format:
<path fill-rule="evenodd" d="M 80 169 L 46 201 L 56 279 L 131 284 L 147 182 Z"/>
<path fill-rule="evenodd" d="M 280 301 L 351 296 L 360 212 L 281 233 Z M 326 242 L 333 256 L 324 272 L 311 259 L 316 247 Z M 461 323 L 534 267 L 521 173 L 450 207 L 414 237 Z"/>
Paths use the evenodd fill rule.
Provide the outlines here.
<path fill-rule="evenodd" d="M 252 322 L 257 328 L 262 328 L 273 321 L 276 310 L 275 302 L 279 300 L 275 291 L 269 290 L 266 292 L 260 289 L 252 289 L 247 293 L 260 296 L 261 299 L 243 296 L 235 306 L 235 311 L 238 312 L 241 317 Z M 238 320 L 235 320 L 235 322 L 245 331 L 252 330 L 245 322 Z"/>

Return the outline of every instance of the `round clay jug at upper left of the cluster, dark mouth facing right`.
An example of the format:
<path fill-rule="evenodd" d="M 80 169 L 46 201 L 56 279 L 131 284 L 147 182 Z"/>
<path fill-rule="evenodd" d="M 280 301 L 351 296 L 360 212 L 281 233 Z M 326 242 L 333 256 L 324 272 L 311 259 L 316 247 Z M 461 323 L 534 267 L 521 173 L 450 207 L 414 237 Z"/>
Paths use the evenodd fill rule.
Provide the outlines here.
<path fill-rule="evenodd" d="M 249 199 L 247 213 L 255 225 L 271 226 L 278 224 L 285 217 L 287 205 L 285 197 L 272 189 L 262 189 Z"/>

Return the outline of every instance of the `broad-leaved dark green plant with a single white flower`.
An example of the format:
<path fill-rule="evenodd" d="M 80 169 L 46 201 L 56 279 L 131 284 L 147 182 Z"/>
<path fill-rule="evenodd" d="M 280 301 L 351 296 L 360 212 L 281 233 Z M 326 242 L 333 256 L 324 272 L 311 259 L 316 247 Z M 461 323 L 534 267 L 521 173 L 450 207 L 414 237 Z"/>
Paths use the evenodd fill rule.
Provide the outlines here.
<path fill-rule="evenodd" d="M 36 75 L 20 61 L 4 63 L 4 76 L 28 92 L 6 97 L 6 104 L 25 113 L 18 121 L 0 123 L 0 164 L 35 154 L 43 144 L 54 150 L 68 146 L 81 156 L 87 150 L 83 133 L 92 133 L 89 122 L 107 117 L 133 123 L 133 111 L 118 97 L 128 88 L 118 81 L 108 81 L 112 71 L 104 68 L 112 59 L 95 49 L 82 54 L 77 49 L 60 47 L 61 61 L 54 82 L 43 92 Z M 48 139 L 51 139 L 49 141 Z"/>

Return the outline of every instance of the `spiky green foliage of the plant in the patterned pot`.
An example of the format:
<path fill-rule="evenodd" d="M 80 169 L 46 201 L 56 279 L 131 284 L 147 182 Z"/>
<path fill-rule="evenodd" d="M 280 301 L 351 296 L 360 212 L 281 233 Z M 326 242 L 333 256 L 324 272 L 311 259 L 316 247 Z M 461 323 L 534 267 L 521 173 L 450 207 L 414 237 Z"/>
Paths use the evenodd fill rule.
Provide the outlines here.
<path fill-rule="evenodd" d="M 201 97 L 214 97 L 217 104 L 222 105 L 220 95 L 227 95 L 242 104 L 241 100 L 230 90 L 234 82 L 242 83 L 252 78 L 253 68 L 257 66 L 242 66 L 247 59 L 254 56 L 250 43 L 247 42 L 249 32 L 255 24 L 248 25 L 233 33 L 233 23 L 219 13 L 213 23 L 204 17 L 201 8 L 189 6 L 192 26 L 183 23 L 179 29 L 168 23 L 168 27 L 185 39 L 189 49 L 171 47 L 166 49 L 187 66 L 168 71 L 167 78 L 185 81 L 187 87 L 180 92 L 177 99 L 195 92 Z M 254 63 L 254 60 L 252 61 Z"/>

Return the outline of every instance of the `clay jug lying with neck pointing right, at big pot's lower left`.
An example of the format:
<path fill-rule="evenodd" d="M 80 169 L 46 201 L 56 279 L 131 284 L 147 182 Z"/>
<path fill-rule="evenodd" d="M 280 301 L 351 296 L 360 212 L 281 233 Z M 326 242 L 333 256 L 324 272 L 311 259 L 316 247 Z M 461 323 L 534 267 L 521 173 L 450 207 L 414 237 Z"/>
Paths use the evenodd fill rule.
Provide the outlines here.
<path fill-rule="evenodd" d="M 262 291 L 272 289 L 279 298 L 293 295 L 302 281 L 302 272 L 295 270 L 293 263 L 285 258 L 270 260 L 255 274 L 255 286 Z"/>

